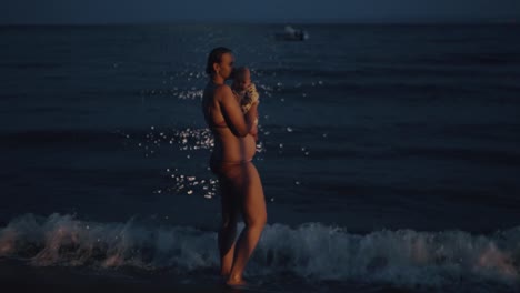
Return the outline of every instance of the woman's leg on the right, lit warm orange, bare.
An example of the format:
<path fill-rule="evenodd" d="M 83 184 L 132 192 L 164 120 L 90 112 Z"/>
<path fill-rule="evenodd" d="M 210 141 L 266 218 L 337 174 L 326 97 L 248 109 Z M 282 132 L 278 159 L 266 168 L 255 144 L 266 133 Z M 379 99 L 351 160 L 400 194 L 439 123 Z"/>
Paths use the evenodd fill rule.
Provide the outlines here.
<path fill-rule="evenodd" d="M 234 183 L 238 183 L 237 186 L 241 191 L 239 203 L 246 226 L 240 233 L 234 247 L 233 265 L 228 284 L 243 283 L 243 270 L 267 223 L 266 200 L 257 168 L 251 162 L 244 163 L 240 168 L 240 181 Z"/>

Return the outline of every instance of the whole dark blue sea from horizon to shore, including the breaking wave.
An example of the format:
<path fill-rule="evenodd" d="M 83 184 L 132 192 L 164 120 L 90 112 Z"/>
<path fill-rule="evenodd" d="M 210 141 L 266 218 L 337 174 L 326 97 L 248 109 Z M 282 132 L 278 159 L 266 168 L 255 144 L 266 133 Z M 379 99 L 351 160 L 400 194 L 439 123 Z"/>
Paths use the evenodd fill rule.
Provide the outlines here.
<path fill-rule="evenodd" d="M 247 276 L 514 290 L 520 26 L 304 28 L 286 42 L 264 24 L 0 27 L 0 256 L 216 273 L 200 100 L 226 46 L 261 95 L 269 225 Z"/>

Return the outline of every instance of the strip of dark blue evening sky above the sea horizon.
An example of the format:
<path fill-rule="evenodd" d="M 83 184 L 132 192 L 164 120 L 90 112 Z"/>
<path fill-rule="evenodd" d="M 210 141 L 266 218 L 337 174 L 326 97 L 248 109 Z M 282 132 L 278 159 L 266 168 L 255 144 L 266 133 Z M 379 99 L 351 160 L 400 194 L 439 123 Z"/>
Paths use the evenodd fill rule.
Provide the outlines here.
<path fill-rule="evenodd" d="M 519 21 L 519 0 L 10 0 L 0 23 Z"/>

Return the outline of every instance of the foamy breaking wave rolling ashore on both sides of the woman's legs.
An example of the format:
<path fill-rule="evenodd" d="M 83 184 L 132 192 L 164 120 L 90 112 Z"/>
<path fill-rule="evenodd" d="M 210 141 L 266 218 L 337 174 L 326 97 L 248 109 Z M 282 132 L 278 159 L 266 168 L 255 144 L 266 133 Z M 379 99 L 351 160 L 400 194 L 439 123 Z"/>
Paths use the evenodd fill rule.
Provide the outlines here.
<path fill-rule="evenodd" d="M 23 214 L 0 230 L 0 256 L 33 265 L 136 266 L 193 272 L 218 267 L 217 233 L 129 220 L 97 223 L 69 214 Z M 353 234 L 307 223 L 266 226 L 247 275 L 304 282 L 364 281 L 446 286 L 464 280 L 518 285 L 520 226 L 492 234 L 381 230 Z"/>

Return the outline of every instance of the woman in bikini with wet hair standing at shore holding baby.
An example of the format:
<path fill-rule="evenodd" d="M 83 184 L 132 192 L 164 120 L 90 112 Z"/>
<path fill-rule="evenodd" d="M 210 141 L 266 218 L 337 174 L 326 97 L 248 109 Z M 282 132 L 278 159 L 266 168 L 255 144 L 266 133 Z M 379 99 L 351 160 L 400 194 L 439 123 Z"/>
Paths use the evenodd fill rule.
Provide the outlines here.
<path fill-rule="evenodd" d="M 210 52 L 202 111 L 214 137 L 210 166 L 219 178 L 221 193 L 220 274 L 228 285 L 240 286 L 246 284 L 242 273 L 266 225 L 267 212 L 260 175 L 251 162 L 257 144 L 250 132 L 258 115 L 258 102 L 242 113 L 231 88 L 224 83 L 233 64 L 230 49 L 219 47 Z M 239 214 L 246 226 L 234 241 Z"/>

